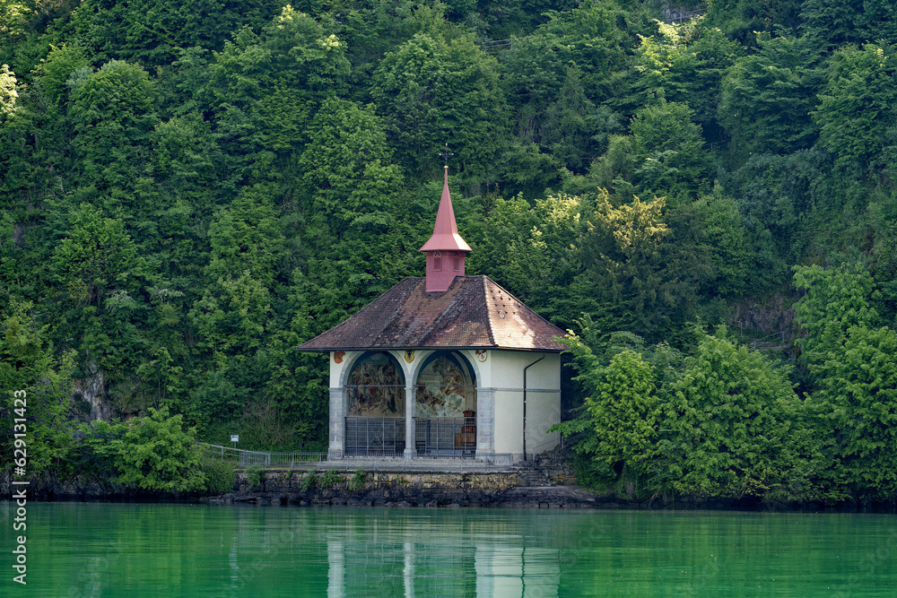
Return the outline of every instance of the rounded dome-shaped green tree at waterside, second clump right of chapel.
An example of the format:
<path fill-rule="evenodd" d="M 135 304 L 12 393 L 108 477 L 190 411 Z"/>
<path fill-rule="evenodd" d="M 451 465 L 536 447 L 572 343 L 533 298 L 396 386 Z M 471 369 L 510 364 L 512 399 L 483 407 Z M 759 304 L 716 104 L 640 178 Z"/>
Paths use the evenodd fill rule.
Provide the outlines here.
<path fill-rule="evenodd" d="M 658 489 L 697 497 L 814 498 L 814 446 L 788 372 L 705 336 L 659 406 Z"/>

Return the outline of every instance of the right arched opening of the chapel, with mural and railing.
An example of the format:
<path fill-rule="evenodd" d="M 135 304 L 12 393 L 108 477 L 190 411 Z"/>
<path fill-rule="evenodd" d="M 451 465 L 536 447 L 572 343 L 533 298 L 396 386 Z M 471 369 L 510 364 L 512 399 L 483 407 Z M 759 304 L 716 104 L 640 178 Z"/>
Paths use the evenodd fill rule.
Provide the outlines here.
<path fill-rule="evenodd" d="M 414 443 L 419 455 L 473 456 L 476 375 L 464 355 L 437 351 L 414 385 Z"/>

